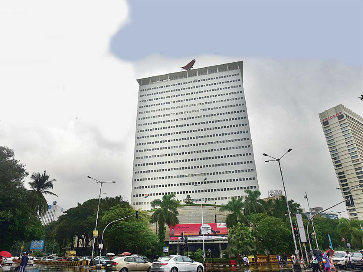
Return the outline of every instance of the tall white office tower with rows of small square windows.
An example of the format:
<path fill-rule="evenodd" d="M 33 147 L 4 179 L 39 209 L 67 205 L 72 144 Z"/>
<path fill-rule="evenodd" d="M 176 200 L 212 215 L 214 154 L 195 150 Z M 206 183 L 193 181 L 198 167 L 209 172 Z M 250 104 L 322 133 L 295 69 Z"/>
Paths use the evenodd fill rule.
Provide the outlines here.
<path fill-rule="evenodd" d="M 242 62 L 137 82 L 132 206 L 149 210 L 171 193 L 223 204 L 258 189 Z"/>

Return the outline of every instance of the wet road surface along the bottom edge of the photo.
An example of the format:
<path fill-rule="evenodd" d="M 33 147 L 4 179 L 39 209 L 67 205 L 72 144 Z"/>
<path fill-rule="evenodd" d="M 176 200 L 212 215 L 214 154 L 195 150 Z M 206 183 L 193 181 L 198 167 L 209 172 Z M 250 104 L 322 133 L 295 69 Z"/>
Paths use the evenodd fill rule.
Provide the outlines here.
<path fill-rule="evenodd" d="M 14 272 L 17 264 L 13 264 L 12 266 L 5 266 L 0 271 L 1 272 Z M 338 272 L 352 272 L 352 270 L 348 269 L 337 269 Z M 83 267 L 52 267 L 49 265 L 37 265 L 26 267 L 26 272 L 96 272 L 95 269 L 92 268 L 83 268 Z M 208 267 L 207 272 L 229 272 L 229 271 L 238 271 L 238 272 L 293 272 L 290 268 L 277 268 L 277 265 L 251 265 L 249 268 L 245 267 Z M 311 269 L 302 270 L 302 272 L 311 272 Z M 358 270 L 355 270 L 358 272 Z M 104 269 L 97 270 L 97 272 L 106 272 Z M 296 272 L 296 271 L 295 271 Z"/>

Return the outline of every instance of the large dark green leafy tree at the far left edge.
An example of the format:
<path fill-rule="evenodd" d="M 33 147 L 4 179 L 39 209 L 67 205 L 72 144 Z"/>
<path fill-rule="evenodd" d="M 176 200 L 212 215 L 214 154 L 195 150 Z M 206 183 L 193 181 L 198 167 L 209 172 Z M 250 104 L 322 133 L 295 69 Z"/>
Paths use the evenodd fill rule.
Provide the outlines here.
<path fill-rule="evenodd" d="M 28 203 L 32 197 L 24 187 L 28 176 L 25 165 L 15 159 L 14 151 L 0 147 L 0 241 L 10 250 L 16 241 L 42 239 L 44 227 Z"/>

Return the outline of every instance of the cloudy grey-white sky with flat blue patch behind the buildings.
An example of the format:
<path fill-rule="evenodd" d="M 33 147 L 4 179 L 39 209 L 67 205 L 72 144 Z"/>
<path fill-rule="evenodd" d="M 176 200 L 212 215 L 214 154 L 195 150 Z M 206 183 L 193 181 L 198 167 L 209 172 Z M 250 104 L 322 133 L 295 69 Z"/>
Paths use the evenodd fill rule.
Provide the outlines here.
<path fill-rule="evenodd" d="M 56 178 L 68 209 L 131 197 L 137 78 L 244 61 L 262 197 L 328 207 L 342 197 L 318 113 L 363 115 L 362 1 L 1 1 L 0 145 Z M 29 181 L 29 178 L 26 178 Z M 344 205 L 334 210 L 344 210 Z"/>

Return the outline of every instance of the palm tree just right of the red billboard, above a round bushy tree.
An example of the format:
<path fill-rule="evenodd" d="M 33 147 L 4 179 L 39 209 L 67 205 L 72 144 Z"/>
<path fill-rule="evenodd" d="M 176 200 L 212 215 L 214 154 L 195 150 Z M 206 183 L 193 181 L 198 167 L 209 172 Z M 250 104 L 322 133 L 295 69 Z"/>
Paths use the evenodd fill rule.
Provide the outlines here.
<path fill-rule="evenodd" d="M 237 225 L 237 222 L 247 224 L 247 218 L 243 214 L 244 203 L 242 198 L 232 197 L 227 204 L 222 205 L 220 211 L 229 211 L 230 214 L 226 217 L 227 227 L 233 227 Z"/>

